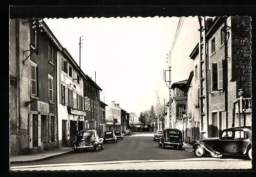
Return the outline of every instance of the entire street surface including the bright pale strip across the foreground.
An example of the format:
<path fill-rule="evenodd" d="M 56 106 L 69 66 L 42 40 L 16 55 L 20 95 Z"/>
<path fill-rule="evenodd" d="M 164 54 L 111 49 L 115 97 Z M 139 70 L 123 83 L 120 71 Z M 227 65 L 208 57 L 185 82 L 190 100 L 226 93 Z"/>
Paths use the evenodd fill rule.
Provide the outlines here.
<path fill-rule="evenodd" d="M 198 165 L 198 161 L 204 162 Z M 168 162 L 168 163 L 166 163 Z M 218 163 L 217 163 L 218 162 Z M 58 166 L 56 166 L 58 164 Z M 104 167 L 102 165 L 104 164 Z M 114 165 L 116 164 L 116 165 Z M 137 167 L 136 167 L 137 164 Z M 170 164 L 172 164 L 170 166 Z M 190 165 L 189 165 L 190 164 Z M 217 165 L 219 164 L 219 165 Z M 42 165 L 42 166 L 40 166 Z M 67 165 L 67 166 L 61 166 Z M 113 167 L 114 165 L 114 167 Z M 139 166 L 138 166 L 139 165 Z M 104 149 L 86 153 L 71 153 L 53 159 L 13 164 L 13 170 L 18 166 L 34 166 L 33 168 L 57 169 L 231 169 L 251 168 L 251 161 L 244 159 L 219 159 L 219 158 L 196 158 L 189 151 L 176 150 L 172 148 L 162 149 L 157 142 L 153 141 L 153 133 L 133 133 L 132 136 L 125 136 L 117 143 L 105 143 Z M 24 167 L 23 167 L 24 168 Z M 36 169 L 35 169 L 36 170 Z"/>

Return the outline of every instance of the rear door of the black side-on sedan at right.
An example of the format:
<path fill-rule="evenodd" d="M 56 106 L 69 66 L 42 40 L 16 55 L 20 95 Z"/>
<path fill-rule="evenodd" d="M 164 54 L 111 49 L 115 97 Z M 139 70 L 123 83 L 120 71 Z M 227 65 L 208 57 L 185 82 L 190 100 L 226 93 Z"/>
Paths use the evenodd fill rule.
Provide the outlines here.
<path fill-rule="evenodd" d="M 250 142 L 250 138 L 247 132 L 243 130 L 236 130 L 234 131 L 234 141 L 233 141 L 233 149 L 234 153 L 242 154 Z"/>

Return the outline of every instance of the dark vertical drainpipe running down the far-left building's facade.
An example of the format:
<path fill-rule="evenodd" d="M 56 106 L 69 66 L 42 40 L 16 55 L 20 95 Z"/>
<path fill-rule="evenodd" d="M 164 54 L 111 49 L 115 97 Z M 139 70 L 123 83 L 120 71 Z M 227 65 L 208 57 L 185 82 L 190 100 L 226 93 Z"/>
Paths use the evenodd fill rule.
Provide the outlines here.
<path fill-rule="evenodd" d="M 20 86 L 19 86 L 19 20 L 15 20 L 15 29 L 16 29 L 16 154 L 19 154 L 19 125 L 20 125 Z"/>

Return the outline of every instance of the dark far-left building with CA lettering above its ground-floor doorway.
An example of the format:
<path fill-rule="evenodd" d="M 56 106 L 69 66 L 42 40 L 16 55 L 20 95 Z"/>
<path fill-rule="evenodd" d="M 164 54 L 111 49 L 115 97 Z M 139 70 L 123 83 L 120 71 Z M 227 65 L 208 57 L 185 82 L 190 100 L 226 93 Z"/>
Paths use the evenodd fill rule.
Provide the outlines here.
<path fill-rule="evenodd" d="M 10 20 L 11 154 L 58 147 L 57 51 L 44 21 Z"/>

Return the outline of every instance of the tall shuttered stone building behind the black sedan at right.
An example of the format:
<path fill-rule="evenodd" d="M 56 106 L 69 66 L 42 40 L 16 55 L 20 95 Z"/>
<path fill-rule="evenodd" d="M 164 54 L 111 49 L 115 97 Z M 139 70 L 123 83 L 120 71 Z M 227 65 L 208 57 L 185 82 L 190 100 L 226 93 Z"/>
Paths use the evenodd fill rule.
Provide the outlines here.
<path fill-rule="evenodd" d="M 199 22 L 200 42 L 190 58 L 194 58 L 194 80 L 198 75 L 199 81 L 192 82 L 191 94 L 199 88 L 198 139 L 202 140 L 218 137 L 226 128 L 251 125 L 251 19 L 199 17 Z"/>

